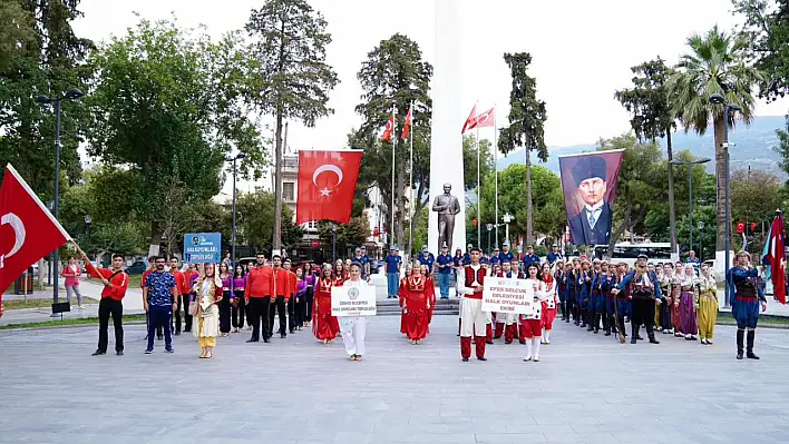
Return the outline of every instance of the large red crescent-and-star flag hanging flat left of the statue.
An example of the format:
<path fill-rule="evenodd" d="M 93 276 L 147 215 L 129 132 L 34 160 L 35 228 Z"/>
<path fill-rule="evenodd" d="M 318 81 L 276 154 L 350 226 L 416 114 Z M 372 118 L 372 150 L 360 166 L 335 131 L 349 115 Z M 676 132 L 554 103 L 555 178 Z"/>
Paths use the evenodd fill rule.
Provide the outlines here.
<path fill-rule="evenodd" d="M 296 225 L 351 220 L 362 151 L 299 151 Z"/>

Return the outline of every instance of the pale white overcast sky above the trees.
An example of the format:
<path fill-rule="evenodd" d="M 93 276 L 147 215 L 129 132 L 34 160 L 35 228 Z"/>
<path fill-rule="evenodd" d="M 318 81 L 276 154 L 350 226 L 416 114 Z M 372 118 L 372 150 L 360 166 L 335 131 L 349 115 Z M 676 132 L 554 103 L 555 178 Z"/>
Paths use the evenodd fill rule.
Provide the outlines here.
<path fill-rule="evenodd" d="M 631 85 L 630 68 L 661 56 L 675 63 L 693 33 L 719 24 L 731 29 L 737 18 L 730 0 L 457 0 L 461 53 L 459 76 L 466 116 L 497 105 L 499 127 L 508 112 L 510 77 L 505 52 L 530 52 L 530 75 L 537 97 L 546 102 L 546 144 L 593 144 L 629 130 L 629 116 L 614 100 L 614 91 Z M 96 41 L 123 34 L 142 17 L 156 20 L 175 16 L 183 27 L 207 27 L 212 37 L 241 29 L 252 8 L 263 0 L 136 0 L 134 2 L 81 0 L 85 17 L 74 23 L 80 37 Z M 435 60 L 435 12 L 430 0 L 310 0 L 329 22 L 333 41 L 327 61 L 340 83 L 330 93 L 334 114 L 314 128 L 289 125 L 288 146 L 298 149 L 345 147 L 347 135 L 361 119 L 353 108 L 361 89 L 355 78 L 367 53 L 381 40 L 399 32 Z M 759 101 L 756 115 L 782 116 L 789 98 Z M 383 126 L 384 122 L 381 122 Z M 462 121 L 458 121 L 458 130 Z M 489 132 L 489 134 L 487 134 Z M 480 130 L 493 138 L 493 130 Z"/>

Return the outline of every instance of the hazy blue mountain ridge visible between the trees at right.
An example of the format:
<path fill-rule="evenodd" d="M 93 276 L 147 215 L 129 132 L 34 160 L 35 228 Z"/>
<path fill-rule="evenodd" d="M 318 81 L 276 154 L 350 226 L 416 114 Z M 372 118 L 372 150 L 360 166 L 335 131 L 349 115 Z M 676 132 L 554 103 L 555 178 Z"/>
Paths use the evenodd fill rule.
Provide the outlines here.
<path fill-rule="evenodd" d="M 781 180 L 787 179 L 787 174 L 779 166 L 780 155 L 773 149 L 778 146 L 778 135 L 776 130 L 787 129 L 787 120 L 783 116 L 757 116 L 749 126 L 742 124 L 730 129 L 729 131 L 729 156 L 732 169 L 747 168 L 770 171 L 778 176 Z M 665 139 L 661 139 L 660 144 L 665 156 Z M 674 152 L 690 150 L 694 157 L 708 157 L 713 161 L 707 164 L 709 172 L 714 172 L 715 168 L 715 149 L 712 130 L 707 131 L 704 136 L 698 136 L 695 132 L 684 132 L 678 130 L 672 135 L 672 147 Z M 549 170 L 559 174 L 558 157 L 574 155 L 581 152 L 593 151 L 596 148 L 595 144 L 573 145 L 567 147 L 548 147 L 548 161 L 543 165 Z M 513 164 L 525 164 L 524 149 L 517 149 L 507 157 L 498 159 L 499 170 L 507 168 Z"/>

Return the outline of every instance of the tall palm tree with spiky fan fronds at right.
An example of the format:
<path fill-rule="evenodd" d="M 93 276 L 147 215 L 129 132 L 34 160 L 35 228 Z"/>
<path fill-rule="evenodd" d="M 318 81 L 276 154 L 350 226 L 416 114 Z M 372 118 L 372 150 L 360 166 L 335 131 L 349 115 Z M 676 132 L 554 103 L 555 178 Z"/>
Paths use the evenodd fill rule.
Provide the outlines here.
<path fill-rule="evenodd" d="M 717 219 L 718 230 L 715 249 L 725 249 L 725 218 L 731 218 L 731 211 L 725 214 L 724 179 L 725 152 L 723 151 L 723 106 L 710 103 L 710 95 L 720 93 L 725 102 L 737 103 L 742 108 L 739 116 L 746 125 L 753 118 L 754 98 L 752 87 L 763 80 L 758 69 L 748 66 L 744 60 L 748 42 L 732 38 L 724 31 L 712 28 L 704 36 L 694 34 L 688 39 L 690 51 L 680 58 L 676 73 L 668 81 L 671 112 L 680 119 L 685 132 L 693 129 L 703 135 L 712 121 L 715 140 L 715 176 L 718 179 Z M 734 116 L 730 116 L 730 125 Z"/>

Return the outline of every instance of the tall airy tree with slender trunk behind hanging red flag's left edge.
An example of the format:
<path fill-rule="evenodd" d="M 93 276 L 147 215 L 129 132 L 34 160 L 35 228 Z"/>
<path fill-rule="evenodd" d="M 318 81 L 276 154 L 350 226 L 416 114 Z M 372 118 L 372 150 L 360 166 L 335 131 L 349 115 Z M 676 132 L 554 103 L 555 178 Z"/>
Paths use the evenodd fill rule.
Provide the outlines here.
<path fill-rule="evenodd" d="M 274 117 L 273 249 L 282 248 L 282 128 L 286 119 L 308 127 L 333 112 L 329 91 L 338 83 L 337 73 L 325 62 L 331 34 L 323 14 L 305 0 L 266 0 L 253 9 L 246 31 L 254 62 L 249 79 L 251 102 L 264 115 Z"/>

